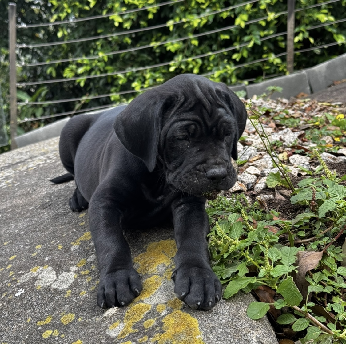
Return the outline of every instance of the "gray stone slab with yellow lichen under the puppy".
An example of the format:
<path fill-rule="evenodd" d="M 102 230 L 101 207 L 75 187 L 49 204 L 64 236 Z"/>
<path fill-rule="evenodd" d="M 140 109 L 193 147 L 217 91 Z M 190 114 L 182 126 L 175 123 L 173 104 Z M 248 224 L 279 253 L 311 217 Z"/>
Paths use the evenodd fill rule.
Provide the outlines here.
<path fill-rule="evenodd" d="M 49 182 L 65 173 L 57 145 L 55 138 L 0 155 L 1 343 L 277 344 L 266 318 L 246 316 L 251 294 L 210 311 L 175 298 L 169 227 L 128 233 L 143 292 L 128 307 L 100 309 L 88 212 L 70 211 L 72 182 Z"/>

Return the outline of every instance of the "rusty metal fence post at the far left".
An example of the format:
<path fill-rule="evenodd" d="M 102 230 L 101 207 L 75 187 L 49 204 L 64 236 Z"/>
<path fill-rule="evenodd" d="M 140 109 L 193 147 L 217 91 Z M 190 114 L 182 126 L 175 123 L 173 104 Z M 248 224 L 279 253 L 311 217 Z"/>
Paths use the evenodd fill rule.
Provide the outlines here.
<path fill-rule="evenodd" d="M 10 60 L 10 130 L 11 149 L 17 148 L 17 66 L 16 66 L 16 14 L 17 5 L 9 3 L 8 26 L 9 26 L 9 60 Z"/>

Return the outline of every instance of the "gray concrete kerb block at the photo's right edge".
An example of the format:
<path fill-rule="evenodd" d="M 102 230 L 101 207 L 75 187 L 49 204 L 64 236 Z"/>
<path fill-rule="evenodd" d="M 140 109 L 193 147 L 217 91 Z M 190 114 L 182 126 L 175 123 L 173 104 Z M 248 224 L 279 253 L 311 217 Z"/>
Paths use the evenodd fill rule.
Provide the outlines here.
<path fill-rule="evenodd" d="M 346 79 L 346 53 L 307 69 L 307 73 L 312 92 L 329 87 L 333 81 Z"/>

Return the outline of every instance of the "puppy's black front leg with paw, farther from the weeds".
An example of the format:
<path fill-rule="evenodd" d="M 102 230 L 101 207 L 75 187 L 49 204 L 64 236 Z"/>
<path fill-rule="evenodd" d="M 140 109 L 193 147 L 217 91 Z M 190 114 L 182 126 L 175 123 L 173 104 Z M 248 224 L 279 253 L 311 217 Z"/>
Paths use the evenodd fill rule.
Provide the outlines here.
<path fill-rule="evenodd" d="M 97 190 L 89 204 L 90 230 L 99 262 L 97 303 L 101 308 L 127 306 L 142 291 L 130 247 L 122 234 L 120 206 L 109 191 Z"/>

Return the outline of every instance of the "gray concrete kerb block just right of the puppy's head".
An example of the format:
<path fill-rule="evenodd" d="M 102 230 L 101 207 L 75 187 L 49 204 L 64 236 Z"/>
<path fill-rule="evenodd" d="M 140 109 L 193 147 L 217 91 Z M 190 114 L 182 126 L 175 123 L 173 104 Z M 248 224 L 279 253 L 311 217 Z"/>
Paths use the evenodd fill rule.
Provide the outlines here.
<path fill-rule="evenodd" d="M 263 93 L 268 94 L 267 88 L 269 86 L 282 87 L 282 92 L 274 92 L 271 98 L 290 99 L 291 97 L 297 96 L 301 92 L 305 94 L 311 93 L 307 73 L 306 71 L 300 71 L 287 76 L 277 77 L 261 83 L 248 85 L 245 87 L 247 97 L 252 98 L 254 95 L 259 96 Z"/>

